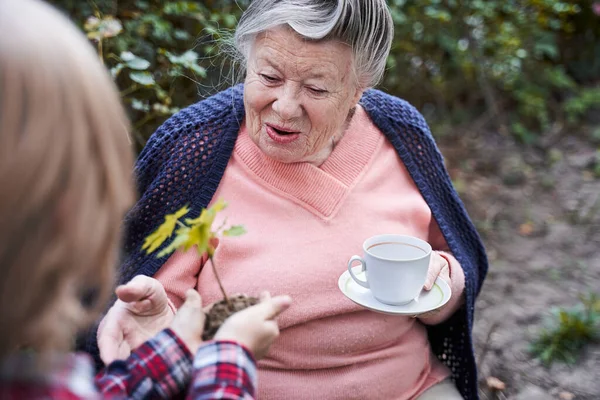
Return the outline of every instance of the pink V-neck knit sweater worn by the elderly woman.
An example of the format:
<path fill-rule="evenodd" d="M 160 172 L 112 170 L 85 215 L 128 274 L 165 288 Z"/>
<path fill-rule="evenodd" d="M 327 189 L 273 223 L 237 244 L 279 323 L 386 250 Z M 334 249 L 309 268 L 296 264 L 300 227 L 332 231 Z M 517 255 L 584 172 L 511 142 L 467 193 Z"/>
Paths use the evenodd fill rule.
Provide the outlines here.
<path fill-rule="evenodd" d="M 259 363 L 259 399 L 413 399 L 449 375 L 431 355 L 423 323 L 438 323 L 459 306 L 464 275 L 454 257 L 446 254 L 452 299 L 426 321 L 365 310 L 337 287 L 370 236 L 412 235 L 447 250 L 394 148 L 360 107 L 320 167 L 275 162 L 242 128 L 220 198 L 229 203 L 221 218 L 248 231 L 222 239 L 215 253 L 226 290 L 294 300 Z M 195 251 L 177 252 L 157 273 L 175 306 L 191 287 L 204 304 L 221 299 L 205 264 Z"/>

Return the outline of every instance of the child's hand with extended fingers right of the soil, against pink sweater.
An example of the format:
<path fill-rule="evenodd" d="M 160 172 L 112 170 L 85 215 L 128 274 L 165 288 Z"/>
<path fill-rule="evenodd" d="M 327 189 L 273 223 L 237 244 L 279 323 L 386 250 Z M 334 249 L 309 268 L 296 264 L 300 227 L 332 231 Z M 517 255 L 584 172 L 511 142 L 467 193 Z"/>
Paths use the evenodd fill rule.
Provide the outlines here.
<path fill-rule="evenodd" d="M 287 310 L 292 299 L 289 296 L 271 298 L 268 292 L 261 295 L 259 304 L 227 318 L 215 335 L 215 340 L 233 340 L 246 346 L 257 360 L 269 351 L 279 336 L 275 318 Z"/>

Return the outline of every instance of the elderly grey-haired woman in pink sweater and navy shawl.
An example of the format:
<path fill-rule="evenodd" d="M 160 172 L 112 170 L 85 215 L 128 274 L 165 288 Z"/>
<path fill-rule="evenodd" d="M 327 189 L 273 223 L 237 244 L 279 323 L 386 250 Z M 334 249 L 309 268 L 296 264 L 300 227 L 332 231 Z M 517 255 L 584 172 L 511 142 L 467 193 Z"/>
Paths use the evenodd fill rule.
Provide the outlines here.
<path fill-rule="evenodd" d="M 173 309 L 189 288 L 218 300 L 197 252 L 164 262 L 140 248 L 166 213 L 223 198 L 248 231 L 217 248 L 223 285 L 294 299 L 259 363 L 260 399 L 477 398 L 471 327 L 486 255 L 423 117 L 370 89 L 392 37 L 384 0 L 254 0 L 235 34 L 245 83 L 173 116 L 138 160 L 123 281 L 153 276 Z M 388 232 L 431 243 L 426 288 L 449 283 L 444 308 L 389 316 L 338 290 L 349 256 Z"/>

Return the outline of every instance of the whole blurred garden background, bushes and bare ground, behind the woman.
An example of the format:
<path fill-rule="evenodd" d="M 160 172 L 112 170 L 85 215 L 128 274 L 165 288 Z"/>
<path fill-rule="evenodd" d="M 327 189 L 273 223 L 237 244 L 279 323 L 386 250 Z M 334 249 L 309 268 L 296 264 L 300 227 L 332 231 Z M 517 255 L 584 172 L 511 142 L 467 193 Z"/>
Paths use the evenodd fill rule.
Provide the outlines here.
<path fill-rule="evenodd" d="M 249 2 L 50 0 L 111 71 L 138 150 L 170 115 L 236 83 L 219 43 Z M 543 375 L 521 341 L 544 365 L 579 363 L 586 344 L 600 343 L 600 298 L 583 296 L 600 279 L 600 0 L 388 4 L 395 40 L 380 87 L 417 106 L 442 139 L 455 187 L 486 240 L 494 268 L 475 335 L 481 376 L 491 379 L 481 386 L 491 395 L 482 397 L 506 398 L 492 397 L 503 390 L 497 378 L 516 392 Z M 566 306 L 574 294 L 581 302 Z M 556 304 L 565 306 L 542 326 L 538 314 Z M 503 351 L 486 358 L 493 346 Z M 543 376 L 577 398 L 598 399 L 597 378 L 586 378 L 597 359 Z"/>

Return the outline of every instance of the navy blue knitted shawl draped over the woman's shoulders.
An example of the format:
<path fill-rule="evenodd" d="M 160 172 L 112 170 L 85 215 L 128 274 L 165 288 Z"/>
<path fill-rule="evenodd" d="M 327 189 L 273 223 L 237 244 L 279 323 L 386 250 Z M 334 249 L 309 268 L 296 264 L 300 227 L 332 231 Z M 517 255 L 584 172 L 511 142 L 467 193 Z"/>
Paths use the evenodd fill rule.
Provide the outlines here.
<path fill-rule="evenodd" d="M 360 104 L 396 148 L 464 269 L 466 304 L 428 332 L 434 353 L 452 371 L 463 397 L 477 399 L 471 329 L 475 297 L 488 267 L 484 247 L 421 114 L 406 101 L 373 89 Z M 150 138 L 136 165 L 141 198 L 126 220 L 122 282 L 136 274 L 152 276 L 161 267 L 164 259 L 147 256 L 140 247 L 165 214 L 185 204 L 198 213 L 208 205 L 243 119 L 243 86 L 238 85 L 180 111 Z"/>

